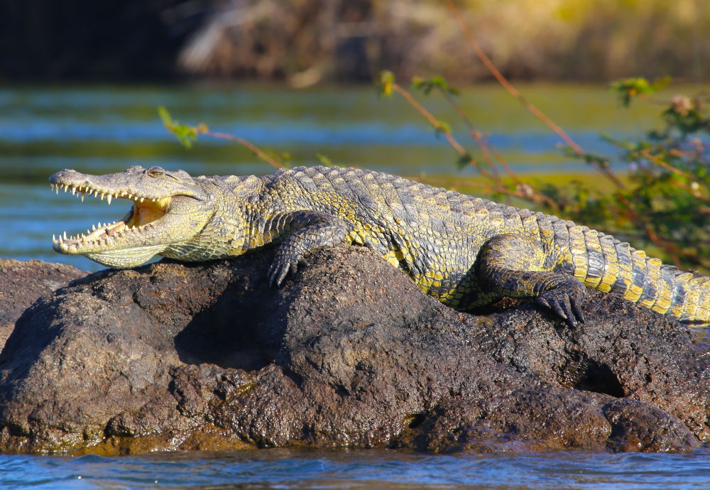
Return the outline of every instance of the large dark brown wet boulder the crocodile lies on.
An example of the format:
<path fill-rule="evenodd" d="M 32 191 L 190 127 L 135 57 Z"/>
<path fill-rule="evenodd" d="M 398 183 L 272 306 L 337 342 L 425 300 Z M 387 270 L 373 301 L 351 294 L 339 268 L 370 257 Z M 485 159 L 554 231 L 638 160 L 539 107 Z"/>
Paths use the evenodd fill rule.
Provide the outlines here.
<path fill-rule="evenodd" d="M 367 249 L 101 271 L 34 303 L 0 354 L 0 448 L 687 450 L 710 440 L 707 346 L 591 292 L 467 315 Z"/>

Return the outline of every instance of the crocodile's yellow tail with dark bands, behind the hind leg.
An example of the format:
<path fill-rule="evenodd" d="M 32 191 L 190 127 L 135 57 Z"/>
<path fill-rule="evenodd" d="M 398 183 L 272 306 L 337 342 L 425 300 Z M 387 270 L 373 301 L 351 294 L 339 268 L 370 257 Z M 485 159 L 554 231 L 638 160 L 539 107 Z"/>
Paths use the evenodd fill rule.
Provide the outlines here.
<path fill-rule="evenodd" d="M 562 220 L 552 225 L 556 240 L 566 236 L 574 265 L 570 272 L 584 285 L 689 325 L 710 325 L 710 278 L 667 266 L 611 235 Z"/>

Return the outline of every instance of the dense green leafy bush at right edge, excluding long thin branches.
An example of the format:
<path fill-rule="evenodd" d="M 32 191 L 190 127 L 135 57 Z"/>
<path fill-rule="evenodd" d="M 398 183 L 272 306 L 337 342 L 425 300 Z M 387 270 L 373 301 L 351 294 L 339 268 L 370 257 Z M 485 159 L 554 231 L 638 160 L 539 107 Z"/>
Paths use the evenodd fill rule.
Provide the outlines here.
<path fill-rule="evenodd" d="M 626 79 L 613 86 L 625 94 L 648 94 L 658 85 Z M 618 148 L 617 161 L 628 169 L 624 187 L 604 193 L 580 184 L 542 192 L 576 221 L 633 238 L 636 246 L 651 249 L 664 261 L 709 271 L 710 152 L 703 141 L 710 136 L 710 119 L 704 102 L 701 96 L 677 95 L 662 102 L 661 129 L 633 140 L 604 137 Z M 599 156 L 581 158 L 608 165 Z"/>

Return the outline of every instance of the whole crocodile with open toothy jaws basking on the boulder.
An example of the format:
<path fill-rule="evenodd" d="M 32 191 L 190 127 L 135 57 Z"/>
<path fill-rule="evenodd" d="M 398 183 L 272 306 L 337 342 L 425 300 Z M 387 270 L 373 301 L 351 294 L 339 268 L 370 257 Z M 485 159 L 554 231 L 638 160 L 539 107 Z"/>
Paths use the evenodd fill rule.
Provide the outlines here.
<path fill-rule="evenodd" d="M 53 236 L 55 251 L 113 268 L 155 255 L 229 258 L 273 244 L 268 282 L 278 286 L 315 249 L 354 244 L 460 311 L 530 298 L 576 326 L 586 288 L 594 288 L 689 325 L 710 324 L 710 278 L 571 221 L 386 173 L 317 166 L 192 177 L 133 166 L 106 175 L 65 169 L 50 185 L 82 200 L 132 201 L 116 222 Z"/>

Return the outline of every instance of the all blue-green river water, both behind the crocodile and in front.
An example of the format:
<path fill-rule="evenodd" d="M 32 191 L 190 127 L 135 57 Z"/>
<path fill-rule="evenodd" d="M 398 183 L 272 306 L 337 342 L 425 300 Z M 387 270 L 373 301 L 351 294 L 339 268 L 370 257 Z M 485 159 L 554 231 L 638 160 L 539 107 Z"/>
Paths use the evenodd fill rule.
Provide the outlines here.
<path fill-rule="evenodd" d="M 587 151 L 613 156 L 600 133 L 633 136 L 658 124 L 658 107 L 621 109 L 604 87 L 531 85 L 529 99 Z M 455 111 L 430 97 L 427 107 L 473 149 Z M 494 86 L 471 87 L 464 110 L 511 167 L 525 174 L 589 172 L 562 156 L 559 140 Z M 0 88 L 0 256 L 99 266 L 55 254 L 52 234 L 83 231 L 128 209 L 50 192 L 62 168 L 90 173 L 161 165 L 194 174 L 264 174 L 273 168 L 244 148 L 200 137 L 185 150 L 160 124 L 204 122 L 288 153 L 292 165 L 356 165 L 400 175 L 466 178 L 457 155 L 403 100 L 368 87 L 291 91 L 280 87 Z M 618 170 L 624 170 L 618 167 Z M 0 456 L 0 488 L 710 488 L 710 454 L 411 454 L 385 450 L 263 450 L 129 457 Z"/>

